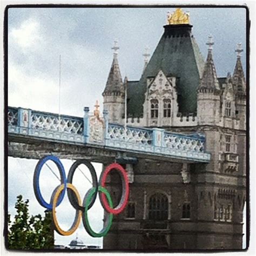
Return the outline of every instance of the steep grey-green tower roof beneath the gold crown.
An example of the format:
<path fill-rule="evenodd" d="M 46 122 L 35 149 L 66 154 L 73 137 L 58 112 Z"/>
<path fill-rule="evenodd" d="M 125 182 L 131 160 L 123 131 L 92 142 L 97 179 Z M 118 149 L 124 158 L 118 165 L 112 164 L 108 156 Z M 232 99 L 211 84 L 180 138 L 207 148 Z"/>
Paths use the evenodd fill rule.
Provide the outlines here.
<path fill-rule="evenodd" d="M 127 112 L 134 117 L 143 113 L 147 77 L 155 77 L 159 70 L 166 76 L 178 78 L 179 112 L 197 111 L 197 88 L 203 72 L 204 60 L 191 34 L 192 25 L 166 25 L 165 32 L 149 64 L 133 90 L 127 92 Z M 129 84 L 128 84 L 129 87 Z"/>

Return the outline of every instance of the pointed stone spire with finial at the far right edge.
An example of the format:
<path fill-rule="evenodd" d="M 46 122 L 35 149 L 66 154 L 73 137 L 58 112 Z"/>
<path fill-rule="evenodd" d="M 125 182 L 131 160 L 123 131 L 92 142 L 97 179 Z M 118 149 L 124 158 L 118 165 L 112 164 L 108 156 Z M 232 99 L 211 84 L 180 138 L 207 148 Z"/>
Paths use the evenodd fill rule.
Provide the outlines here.
<path fill-rule="evenodd" d="M 246 84 L 245 84 L 245 76 L 244 71 L 242 70 L 241 63 L 241 52 L 242 52 L 242 44 L 237 44 L 237 63 L 235 63 L 234 73 L 233 73 L 233 81 L 235 86 L 236 93 L 245 93 L 246 92 Z"/>

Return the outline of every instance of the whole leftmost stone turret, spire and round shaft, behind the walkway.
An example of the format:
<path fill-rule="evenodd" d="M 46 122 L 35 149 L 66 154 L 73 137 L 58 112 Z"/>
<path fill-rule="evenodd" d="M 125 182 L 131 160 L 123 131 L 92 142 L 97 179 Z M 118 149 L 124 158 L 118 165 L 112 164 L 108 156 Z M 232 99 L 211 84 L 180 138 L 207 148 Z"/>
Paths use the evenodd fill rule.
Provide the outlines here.
<path fill-rule="evenodd" d="M 124 116 L 124 84 L 118 65 L 118 49 L 117 41 L 114 41 L 113 62 L 107 78 L 105 90 L 103 92 L 103 108 L 109 112 L 109 122 L 121 123 Z"/>

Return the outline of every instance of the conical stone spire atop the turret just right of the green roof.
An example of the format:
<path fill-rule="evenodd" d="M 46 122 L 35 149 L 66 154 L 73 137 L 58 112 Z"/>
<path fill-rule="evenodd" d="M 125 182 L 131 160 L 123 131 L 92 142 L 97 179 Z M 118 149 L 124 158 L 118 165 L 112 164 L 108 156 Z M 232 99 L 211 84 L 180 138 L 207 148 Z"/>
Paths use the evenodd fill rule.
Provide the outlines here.
<path fill-rule="evenodd" d="M 214 44 L 212 36 L 208 36 L 208 55 L 204 66 L 203 76 L 200 80 L 199 90 L 207 89 L 211 91 L 219 91 L 220 86 L 217 78 L 217 73 L 215 70 L 213 57 L 212 57 L 212 45 Z"/>

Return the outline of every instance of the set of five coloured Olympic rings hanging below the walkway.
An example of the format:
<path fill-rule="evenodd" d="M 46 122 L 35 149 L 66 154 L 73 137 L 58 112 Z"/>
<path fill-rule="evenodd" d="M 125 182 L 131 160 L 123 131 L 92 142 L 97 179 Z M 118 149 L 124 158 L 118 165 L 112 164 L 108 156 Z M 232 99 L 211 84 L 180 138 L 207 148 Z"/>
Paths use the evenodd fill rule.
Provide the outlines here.
<path fill-rule="evenodd" d="M 41 190 L 39 188 L 40 172 L 42 170 L 43 165 L 48 160 L 52 160 L 57 165 L 61 181 L 60 185 L 58 185 L 53 191 L 50 203 L 46 203 L 46 201 L 43 199 Z M 92 188 L 90 188 L 90 190 L 87 191 L 87 193 L 85 194 L 83 203 L 80 199 L 76 187 L 72 185 L 73 175 L 80 164 L 84 164 L 88 167 L 92 177 Z M 110 193 L 106 190 L 105 187 L 107 175 L 113 169 L 118 170 L 118 173 L 122 180 L 122 197 L 117 207 L 115 208 L 113 208 Z M 77 160 L 70 167 L 68 178 L 66 178 L 64 167 L 60 160 L 55 156 L 46 156 L 38 161 L 33 177 L 33 188 L 39 204 L 47 208 L 48 210 L 52 210 L 53 224 L 55 226 L 55 230 L 60 235 L 71 235 L 72 233 L 74 233 L 77 230 L 82 218 L 85 230 L 89 235 L 91 235 L 92 237 L 104 237 L 107 234 L 107 232 L 109 232 L 110 227 L 112 225 L 113 214 L 119 214 L 120 212 L 122 212 L 126 207 L 129 198 L 129 181 L 127 178 L 126 171 L 121 165 L 115 163 L 107 166 L 106 169 L 100 175 L 98 183 L 96 171 L 89 161 Z M 73 224 L 71 225 L 68 231 L 64 231 L 62 230 L 62 228 L 60 228 L 56 217 L 56 207 L 62 202 L 66 190 L 71 205 L 76 209 L 75 220 L 73 221 Z M 100 192 L 100 203 L 106 211 L 104 227 L 99 233 L 92 230 L 87 215 L 88 210 L 95 203 L 98 192 Z"/>

